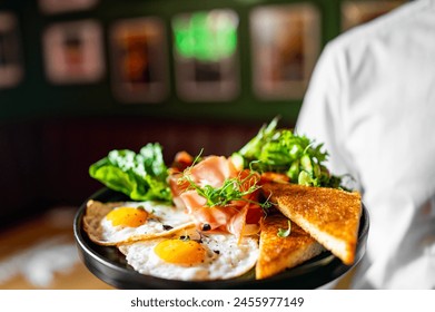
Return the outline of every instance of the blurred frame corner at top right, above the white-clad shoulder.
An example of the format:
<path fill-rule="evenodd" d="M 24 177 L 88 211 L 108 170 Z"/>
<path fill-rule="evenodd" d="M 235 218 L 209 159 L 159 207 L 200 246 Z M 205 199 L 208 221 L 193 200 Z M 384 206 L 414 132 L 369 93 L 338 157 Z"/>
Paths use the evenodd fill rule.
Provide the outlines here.
<path fill-rule="evenodd" d="M 407 2 L 407 0 L 344 1 L 342 3 L 342 30 L 368 22 Z"/>

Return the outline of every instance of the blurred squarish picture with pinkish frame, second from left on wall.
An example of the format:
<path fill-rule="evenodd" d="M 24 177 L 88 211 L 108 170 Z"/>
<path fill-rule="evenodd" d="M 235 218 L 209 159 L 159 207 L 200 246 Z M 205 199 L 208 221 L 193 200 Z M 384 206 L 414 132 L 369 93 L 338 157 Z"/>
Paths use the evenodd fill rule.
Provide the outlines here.
<path fill-rule="evenodd" d="M 102 31 L 93 20 L 61 22 L 43 33 L 47 78 L 56 85 L 89 84 L 105 74 Z"/>

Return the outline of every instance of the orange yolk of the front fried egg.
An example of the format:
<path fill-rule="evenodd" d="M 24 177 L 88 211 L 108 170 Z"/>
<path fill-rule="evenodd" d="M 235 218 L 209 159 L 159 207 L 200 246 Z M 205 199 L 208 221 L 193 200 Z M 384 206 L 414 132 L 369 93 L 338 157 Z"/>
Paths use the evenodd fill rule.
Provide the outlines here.
<path fill-rule="evenodd" d="M 204 262 L 206 250 L 195 241 L 166 240 L 158 243 L 155 253 L 164 261 L 191 266 Z"/>

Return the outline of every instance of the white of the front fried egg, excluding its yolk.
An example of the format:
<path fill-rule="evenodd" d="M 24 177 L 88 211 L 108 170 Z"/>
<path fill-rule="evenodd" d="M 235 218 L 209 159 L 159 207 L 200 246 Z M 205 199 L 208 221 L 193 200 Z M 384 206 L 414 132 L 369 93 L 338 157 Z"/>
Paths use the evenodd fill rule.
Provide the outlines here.
<path fill-rule="evenodd" d="M 155 247 L 167 238 L 156 238 L 119 246 L 127 262 L 141 274 L 168 280 L 208 281 L 233 279 L 248 272 L 257 262 L 258 237 L 240 240 L 233 234 L 205 234 L 200 244 L 206 250 L 202 263 L 177 265 L 161 260 Z"/>

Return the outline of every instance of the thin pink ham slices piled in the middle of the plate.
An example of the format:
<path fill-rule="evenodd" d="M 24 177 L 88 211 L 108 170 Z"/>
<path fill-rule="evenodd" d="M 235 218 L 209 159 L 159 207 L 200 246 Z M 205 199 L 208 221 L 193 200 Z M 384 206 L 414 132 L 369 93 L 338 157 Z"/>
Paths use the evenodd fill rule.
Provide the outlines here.
<path fill-rule="evenodd" d="M 258 191 L 225 206 L 208 206 L 207 199 L 189 187 L 188 182 L 199 187 L 208 185 L 219 188 L 229 178 L 243 182 L 239 185 L 240 191 L 248 191 L 260 181 L 259 176 L 249 170 L 238 170 L 230 158 L 208 156 L 184 173 L 174 172 L 169 178 L 174 202 L 191 215 L 198 230 L 233 233 L 239 238 L 258 233 L 259 221 L 264 216 L 261 207 L 256 204 Z"/>

